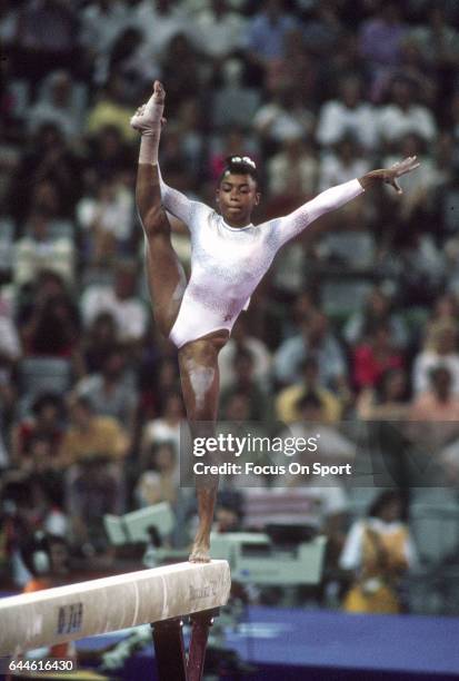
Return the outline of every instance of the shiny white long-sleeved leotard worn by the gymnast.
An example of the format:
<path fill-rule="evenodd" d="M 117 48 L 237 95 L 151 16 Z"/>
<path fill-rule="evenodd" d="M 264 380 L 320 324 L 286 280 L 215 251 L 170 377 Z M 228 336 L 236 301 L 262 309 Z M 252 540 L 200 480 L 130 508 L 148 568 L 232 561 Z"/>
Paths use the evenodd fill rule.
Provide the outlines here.
<path fill-rule="evenodd" d="M 160 181 L 164 208 L 191 234 L 191 276 L 169 336 L 177 347 L 214 330 L 231 333 L 279 248 L 318 217 L 363 191 L 353 179 L 322 191 L 286 217 L 230 227 L 209 206 Z"/>

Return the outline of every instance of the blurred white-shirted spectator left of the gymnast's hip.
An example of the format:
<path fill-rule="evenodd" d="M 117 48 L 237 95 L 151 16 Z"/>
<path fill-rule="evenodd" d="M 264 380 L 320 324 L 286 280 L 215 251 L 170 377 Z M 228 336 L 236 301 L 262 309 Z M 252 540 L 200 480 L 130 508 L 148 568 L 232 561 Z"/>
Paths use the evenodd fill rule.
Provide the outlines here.
<path fill-rule="evenodd" d="M 147 309 L 136 295 L 137 265 L 119 261 L 113 286 L 90 285 L 81 296 L 81 313 L 88 327 L 101 312 L 110 313 L 116 323 L 119 340 L 137 343 L 147 330 Z"/>

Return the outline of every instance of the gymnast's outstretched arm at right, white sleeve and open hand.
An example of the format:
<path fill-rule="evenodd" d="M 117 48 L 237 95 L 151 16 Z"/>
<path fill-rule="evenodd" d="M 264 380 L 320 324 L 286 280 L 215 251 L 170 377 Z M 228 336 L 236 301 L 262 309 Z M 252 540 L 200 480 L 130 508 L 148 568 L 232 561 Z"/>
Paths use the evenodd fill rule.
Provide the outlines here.
<path fill-rule="evenodd" d="M 326 189 L 310 201 L 297 208 L 297 210 L 293 210 L 290 215 L 279 218 L 278 220 L 272 220 L 272 223 L 276 224 L 279 246 L 282 246 L 288 240 L 299 235 L 321 215 L 340 208 L 373 185 L 386 182 L 393 187 L 398 194 L 401 194 L 402 190 L 397 179 L 406 172 L 411 172 L 411 170 L 418 168 L 419 165 L 416 156 L 409 157 L 395 164 L 390 168 L 371 170 L 359 179 L 353 179 L 342 185 L 331 187 L 330 189 Z"/>

